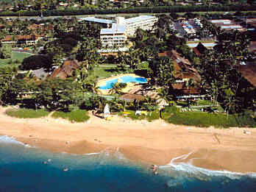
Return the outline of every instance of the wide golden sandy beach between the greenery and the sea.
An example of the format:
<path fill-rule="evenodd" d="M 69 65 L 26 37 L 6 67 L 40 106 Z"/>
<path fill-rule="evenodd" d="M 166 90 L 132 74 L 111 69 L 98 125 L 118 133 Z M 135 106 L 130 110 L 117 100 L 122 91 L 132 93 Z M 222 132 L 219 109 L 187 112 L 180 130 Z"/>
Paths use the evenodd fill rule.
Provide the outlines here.
<path fill-rule="evenodd" d="M 111 121 L 90 115 L 88 122 L 71 124 L 50 117 L 21 119 L 5 115 L 0 107 L 0 135 L 51 152 L 85 154 L 117 149 L 129 160 L 166 165 L 188 154 L 185 162 L 212 170 L 256 172 L 256 129 L 214 129 L 132 121 L 114 116 Z M 250 134 L 244 134 L 249 130 Z"/>

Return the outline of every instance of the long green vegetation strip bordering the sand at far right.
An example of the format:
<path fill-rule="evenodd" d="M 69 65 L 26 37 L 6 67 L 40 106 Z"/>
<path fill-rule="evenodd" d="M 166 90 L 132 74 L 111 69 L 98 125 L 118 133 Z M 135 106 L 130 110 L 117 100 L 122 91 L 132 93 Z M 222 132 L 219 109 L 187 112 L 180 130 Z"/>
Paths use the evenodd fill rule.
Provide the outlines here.
<path fill-rule="evenodd" d="M 224 113 L 179 112 L 176 107 L 167 107 L 163 118 L 171 124 L 196 127 L 256 127 L 256 120 L 249 115 L 227 115 Z"/>

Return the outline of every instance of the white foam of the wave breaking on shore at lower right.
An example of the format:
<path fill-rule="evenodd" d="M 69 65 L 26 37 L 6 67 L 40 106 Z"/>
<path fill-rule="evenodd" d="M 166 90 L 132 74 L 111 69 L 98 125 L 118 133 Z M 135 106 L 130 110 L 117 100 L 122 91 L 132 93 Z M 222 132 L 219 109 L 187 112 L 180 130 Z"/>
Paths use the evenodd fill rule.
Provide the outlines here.
<path fill-rule="evenodd" d="M 193 152 L 190 152 L 188 154 L 182 154 L 179 157 L 174 157 L 170 163 L 168 163 L 165 166 L 159 166 L 159 168 L 171 168 L 174 169 L 175 171 L 183 171 L 189 174 L 201 174 L 201 175 L 205 175 L 208 177 L 212 177 L 212 176 L 218 176 L 218 177 L 229 177 L 230 179 L 240 179 L 242 176 L 247 176 L 247 177 L 253 177 L 256 178 L 256 173 L 239 173 L 239 172 L 232 172 L 232 171 L 213 171 L 213 170 L 209 170 L 206 168 L 200 168 L 200 167 L 196 167 L 193 166 L 191 164 L 188 163 L 175 163 L 176 160 L 185 160 L 186 158 L 189 157 L 189 155 L 193 154 Z"/>

